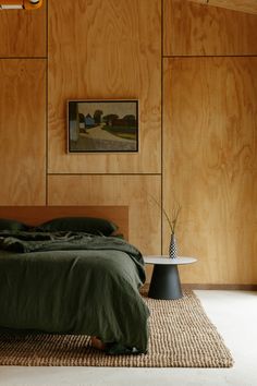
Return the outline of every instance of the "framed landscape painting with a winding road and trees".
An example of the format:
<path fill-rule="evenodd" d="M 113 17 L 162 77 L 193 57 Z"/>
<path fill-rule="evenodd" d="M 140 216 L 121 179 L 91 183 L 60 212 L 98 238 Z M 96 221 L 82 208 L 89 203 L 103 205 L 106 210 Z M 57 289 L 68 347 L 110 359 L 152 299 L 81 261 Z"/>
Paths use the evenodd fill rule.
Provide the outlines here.
<path fill-rule="evenodd" d="M 138 100 L 69 100 L 69 152 L 138 152 Z"/>

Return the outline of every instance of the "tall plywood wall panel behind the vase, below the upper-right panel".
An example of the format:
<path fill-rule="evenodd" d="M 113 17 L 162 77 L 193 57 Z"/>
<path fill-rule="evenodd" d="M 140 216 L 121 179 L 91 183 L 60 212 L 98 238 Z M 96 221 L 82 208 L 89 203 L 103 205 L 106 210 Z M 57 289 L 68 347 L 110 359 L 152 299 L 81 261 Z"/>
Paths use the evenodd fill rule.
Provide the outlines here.
<path fill-rule="evenodd" d="M 163 203 L 181 203 L 180 253 L 199 260 L 187 282 L 257 282 L 256 72 L 257 58 L 164 61 Z"/>

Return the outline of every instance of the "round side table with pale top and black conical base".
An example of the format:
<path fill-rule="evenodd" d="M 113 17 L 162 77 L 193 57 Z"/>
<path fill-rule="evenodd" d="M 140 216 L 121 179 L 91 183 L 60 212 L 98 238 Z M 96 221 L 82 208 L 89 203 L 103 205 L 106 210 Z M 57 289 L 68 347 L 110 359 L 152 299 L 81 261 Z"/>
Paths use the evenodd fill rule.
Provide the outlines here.
<path fill-rule="evenodd" d="M 154 264 L 148 297 L 161 300 L 182 298 L 183 293 L 178 265 L 192 264 L 196 261 L 195 257 L 144 256 L 145 264 Z"/>

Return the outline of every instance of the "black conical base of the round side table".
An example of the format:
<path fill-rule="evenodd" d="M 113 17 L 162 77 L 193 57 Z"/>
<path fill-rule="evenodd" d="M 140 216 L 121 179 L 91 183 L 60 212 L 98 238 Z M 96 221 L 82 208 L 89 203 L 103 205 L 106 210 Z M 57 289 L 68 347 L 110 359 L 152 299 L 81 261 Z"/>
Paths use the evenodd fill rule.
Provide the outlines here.
<path fill-rule="evenodd" d="M 178 265 L 155 265 L 148 297 L 161 300 L 183 297 Z"/>

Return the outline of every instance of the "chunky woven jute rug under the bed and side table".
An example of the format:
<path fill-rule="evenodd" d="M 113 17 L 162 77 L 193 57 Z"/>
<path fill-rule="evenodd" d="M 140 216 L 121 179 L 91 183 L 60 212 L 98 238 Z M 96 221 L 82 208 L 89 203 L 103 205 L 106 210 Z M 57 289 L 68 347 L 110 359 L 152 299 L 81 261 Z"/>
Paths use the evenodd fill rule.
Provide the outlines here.
<path fill-rule="evenodd" d="M 0 336 L 0 364 L 23 366 L 230 367 L 232 357 L 197 297 L 154 300 L 147 354 L 108 355 L 89 337 L 68 335 Z"/>

